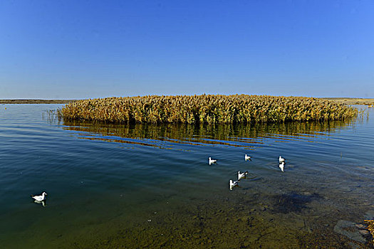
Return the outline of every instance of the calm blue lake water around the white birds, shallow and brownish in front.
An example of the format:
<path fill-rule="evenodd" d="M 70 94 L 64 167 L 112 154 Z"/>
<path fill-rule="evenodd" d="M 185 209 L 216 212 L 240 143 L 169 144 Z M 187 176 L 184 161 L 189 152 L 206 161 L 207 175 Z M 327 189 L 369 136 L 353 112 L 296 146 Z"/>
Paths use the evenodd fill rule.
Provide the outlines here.
<path fill-rule="evenodd" d="M 363 246 L 334 228 L 374 213 L 373 108 L 350 123 L 209 127 L 44 112 L 61 106 L 0 105 L 0 248 Z M 46 206 L 30 197 L 42 191 Z"/>

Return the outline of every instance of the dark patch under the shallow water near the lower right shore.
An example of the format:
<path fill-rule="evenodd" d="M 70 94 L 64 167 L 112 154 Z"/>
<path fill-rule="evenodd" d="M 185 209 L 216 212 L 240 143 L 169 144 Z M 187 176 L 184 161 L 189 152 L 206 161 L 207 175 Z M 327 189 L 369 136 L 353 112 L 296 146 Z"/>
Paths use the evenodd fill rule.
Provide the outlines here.
<path fill-rule="evenodd" d="M 273 213 L 301 213 L 303 209 L 308 208 L 307 204 L 311 201 L 321 198 L 319 194 L 300 194 L 291 192 L 291 194 L 281 194 L 276 196 Z"/>

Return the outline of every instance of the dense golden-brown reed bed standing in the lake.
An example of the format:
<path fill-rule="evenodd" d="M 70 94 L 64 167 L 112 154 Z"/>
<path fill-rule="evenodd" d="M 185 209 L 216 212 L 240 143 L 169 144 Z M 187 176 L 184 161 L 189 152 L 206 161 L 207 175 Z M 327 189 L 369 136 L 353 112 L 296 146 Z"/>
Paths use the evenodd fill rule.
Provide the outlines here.
<path fill-rule="evenodd" d="M 119 123 L 266 123 L 350 120 L 358 110 L 313 97 L 193 95 L 107 97 L 70 102 L 64 120 Z"/>

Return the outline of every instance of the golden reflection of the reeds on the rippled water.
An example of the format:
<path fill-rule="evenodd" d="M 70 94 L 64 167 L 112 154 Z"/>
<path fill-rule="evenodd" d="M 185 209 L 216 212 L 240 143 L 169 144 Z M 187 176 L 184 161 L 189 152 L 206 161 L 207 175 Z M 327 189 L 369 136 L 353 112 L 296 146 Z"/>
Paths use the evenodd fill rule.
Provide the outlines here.
<path fill-rule="evenodd" d="M 160 141 L 191 145 L 220 144 L 251 148 L 264 139 L 288 142 L 336 132 L 352 124 L 349 121 L 289 122 L 284 124 L 103 124 L 63 122 L 63 129 L 79 132 L 78 137 L 106 142 L 138 144 L 168 149 Z M 140 140 L 142 140 L 140 142 Z"/>

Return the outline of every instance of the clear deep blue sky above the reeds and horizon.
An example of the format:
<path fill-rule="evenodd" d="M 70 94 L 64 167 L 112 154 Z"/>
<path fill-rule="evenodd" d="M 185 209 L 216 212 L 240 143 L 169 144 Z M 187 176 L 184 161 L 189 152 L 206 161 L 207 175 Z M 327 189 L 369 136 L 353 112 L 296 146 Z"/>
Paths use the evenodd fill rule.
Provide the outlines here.
<path fill-rule="evenodd" d="M 374 97 L 374 1 L 0 1 L 0 99 Z"/>

